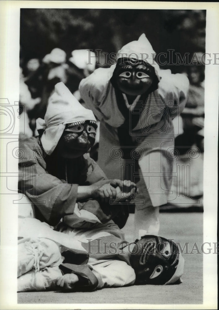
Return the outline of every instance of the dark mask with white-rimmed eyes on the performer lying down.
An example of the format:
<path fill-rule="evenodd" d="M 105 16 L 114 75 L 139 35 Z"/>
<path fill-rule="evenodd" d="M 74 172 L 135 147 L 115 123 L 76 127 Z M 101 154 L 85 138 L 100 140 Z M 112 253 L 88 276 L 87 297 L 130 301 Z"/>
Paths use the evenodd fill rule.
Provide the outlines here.
<path fill-rule="evenodd" d="M 175 242 L 146 235 L 136 240 L 130 263 L 135 270 L 136 284 L 164 285 L 171 279 L 174 283 L 180 280 L 184 259 Z"/>

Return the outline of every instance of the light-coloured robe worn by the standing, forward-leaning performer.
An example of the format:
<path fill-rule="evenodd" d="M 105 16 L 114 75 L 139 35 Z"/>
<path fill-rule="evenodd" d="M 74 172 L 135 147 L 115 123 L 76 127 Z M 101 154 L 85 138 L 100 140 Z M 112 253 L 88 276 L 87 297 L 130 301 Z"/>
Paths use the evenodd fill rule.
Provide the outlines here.
<path fill-rule="evenodd" d="M 156 64 L 157 65 L 157 64 Z M 157 68 L 157 67 L 156 67 Z M 161 77 L 158 89 L 148 95 L 146 101 L 139 99 L 140 118 L 137 125 L 127 135 L 136 142 L 136 149 L 141 153 L 139 167 L 134 168 L 134 176 L 140 189 L 135 197 L 137 209 L 147 206 L 160 206 L 167 203 L 172 184 L 174 131 L 172 120 L 182 112 L 186 104 L 189 82 L 183 74 L 171 74 L 170 70 L 155 73 Z M 81 98 L 100 121 L 100 140 L 98 164 L 108 178 L 123 178 L 121 167 L 124 160 L 119 156 L 120 141 L 118 127 L 125 118 L 120 112 L 116 93 L 111 84 L 115 65 L 99 68 L 79 85 Z M 130 109 L 132 109 L 131 106 Z M 129 114 L 131 124 L 132 113 Z M 116 153 L 117 152 L 117 153 Z M 130 165 L 130 163 L 129 163 Z M 127 178 L 127 177 L 126 177 Z M 139 199 L 143 202 L 139 202 Z M 137 202 L 137 203 L 136 203 Z"/>

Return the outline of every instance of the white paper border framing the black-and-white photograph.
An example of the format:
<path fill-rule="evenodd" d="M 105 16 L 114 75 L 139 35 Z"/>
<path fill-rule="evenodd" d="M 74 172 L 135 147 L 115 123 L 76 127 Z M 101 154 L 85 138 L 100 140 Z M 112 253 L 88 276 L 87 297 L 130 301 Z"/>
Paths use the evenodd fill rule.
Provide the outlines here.
<path fill-rule="evenodd" d="M 19 101 L 20 8 L 117 8 L 117 9 L 203 9 L 206 10 L 206 53 L 219 56 L 219 4 L 217 2 L 146 2 L 146 1 L 1 1 L 1 73 L 0 98 L 10 104 Z M 212 55 L 212 59 L 213 59 Z M 211 58 L 211 56 L 209 57 Z M 212 61 L 213 62 L 213 61 Z M 217 60 L 219 63 L 219 59 Z M 219 65 L 205 67 L 204 127 L 204 240 L 217 241 L 217 142 L 218 142 Z M 4 115 L 1 115 L 4 122 Z M 0 125 L 3 126 L 3 125 Z M 0 127 L 0 129 L 3 127 Z M 18 132 L 18 123 L 15 132 Z M 16 141 L 18 135 L 10 137 Z M 7 165 L 6 140 L 0 139 L 1 171 Z M 17 171 L 16 162 L 15 170 Z M 4 174 L 0 175 L 1 178 Z M 1 179 L 0 179 L 1 181 Z M 13 188 L 17 186 L 13 178 Z M 2 182 L 1 182 L 2 184 Z M 16 197 L 16 196 L 15 196 Z M 8 204 L 9 195 L 2 195 L 0 293 L 1 309 L 217 309 L 217 255 L 203 255 L 203 304 L 18 304 L 17 303 L 17 210 Z M 16 198 L 15 198 L 16 199 Z M 198 284 L 198 283 L 197 283 Z"/>

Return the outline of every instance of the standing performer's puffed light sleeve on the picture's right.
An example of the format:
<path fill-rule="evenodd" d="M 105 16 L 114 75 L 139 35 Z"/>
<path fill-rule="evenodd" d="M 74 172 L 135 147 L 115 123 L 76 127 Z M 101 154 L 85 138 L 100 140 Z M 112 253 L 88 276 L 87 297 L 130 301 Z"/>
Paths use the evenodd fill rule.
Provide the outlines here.
<path fill-rule="evenodd" d="M 182 113 L 189 90 L 188 78 L 185 74 L 172 74 L 170 70 L 161 70 L 160 76 L 159 95 L 167 107 L 172 108 L 171 103 L 173 102 L 174 105 L 178 106 L 177 113 Z"/>

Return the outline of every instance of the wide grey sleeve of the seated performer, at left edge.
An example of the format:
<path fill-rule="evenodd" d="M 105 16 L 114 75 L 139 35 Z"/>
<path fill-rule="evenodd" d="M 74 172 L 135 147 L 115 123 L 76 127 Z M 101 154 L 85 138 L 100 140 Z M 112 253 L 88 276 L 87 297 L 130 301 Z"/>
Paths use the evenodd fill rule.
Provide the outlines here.
<path fill-rule="evenodd" d="M 66 214 L 73 213 L 77 184 L 66 184 L 46 172 L 43 150 L 31 139 L 20 142 L 18 189 L 37 207 L 44 220 L 55 226 Z"/>

